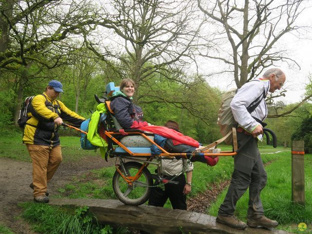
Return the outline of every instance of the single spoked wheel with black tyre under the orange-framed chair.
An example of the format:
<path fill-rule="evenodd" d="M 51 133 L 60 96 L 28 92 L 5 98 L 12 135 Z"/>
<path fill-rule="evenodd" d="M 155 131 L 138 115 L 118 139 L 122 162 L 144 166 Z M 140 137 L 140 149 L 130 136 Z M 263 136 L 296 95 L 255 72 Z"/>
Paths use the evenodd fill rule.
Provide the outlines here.
<path fill-rule="evenodd" d="M 123 175 L 127 178 L 136 176 L 142 164 L 138 162 L 124 163 L 125 171 L 128 175 Z M 123 172 L 122 166 L 119 170 Z M 141 176 L 133 183 L 127 183 L 122 176 L 116 171 L 113 176 L 113 189 L 117 198 L 126 205 L 138 206 L 146 202 L 151 193 L 153 179 L 149 170 L 145 167 L 142 170 Z"/>

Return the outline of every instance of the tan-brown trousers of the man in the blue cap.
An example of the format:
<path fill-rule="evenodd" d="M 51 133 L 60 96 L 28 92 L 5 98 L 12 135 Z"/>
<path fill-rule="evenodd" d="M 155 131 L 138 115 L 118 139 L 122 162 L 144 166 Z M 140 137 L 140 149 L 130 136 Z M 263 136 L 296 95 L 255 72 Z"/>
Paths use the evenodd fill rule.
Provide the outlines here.
<path fill-rule="evenodd" d="M 44 195 L 47 182 L 53 177 L 62 161 L 60 146 L 26 144 L 33 162 L 34 196 Z"/>

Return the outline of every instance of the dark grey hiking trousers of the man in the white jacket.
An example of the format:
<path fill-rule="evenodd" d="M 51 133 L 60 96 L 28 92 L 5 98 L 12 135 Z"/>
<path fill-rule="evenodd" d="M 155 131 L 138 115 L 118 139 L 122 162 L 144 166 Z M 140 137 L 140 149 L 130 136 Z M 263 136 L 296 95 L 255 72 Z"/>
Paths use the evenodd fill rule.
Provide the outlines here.
<path fill-rule="evenodd" d="M 231 184 L 219 208 L 218 215 L 234 215 L 236 203 L 248 187 L 248 217 L 264 213 L 260 193 L 267 183 L 267 173 L 257 148 L 257 139 L 244 133 L 237 133 L 238 146 L 245 141 L 248 141 L 245 147 L 234 156 Z"/>

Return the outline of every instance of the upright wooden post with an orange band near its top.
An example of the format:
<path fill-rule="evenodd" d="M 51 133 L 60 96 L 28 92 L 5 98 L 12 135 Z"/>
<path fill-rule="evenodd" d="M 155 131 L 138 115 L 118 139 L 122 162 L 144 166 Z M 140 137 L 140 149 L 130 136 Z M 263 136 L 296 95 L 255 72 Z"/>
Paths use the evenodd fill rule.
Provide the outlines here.
<path fill-rule="evenodd" d="M 305 204 L 304 141 L 292 141 L 292 201 Z"/>

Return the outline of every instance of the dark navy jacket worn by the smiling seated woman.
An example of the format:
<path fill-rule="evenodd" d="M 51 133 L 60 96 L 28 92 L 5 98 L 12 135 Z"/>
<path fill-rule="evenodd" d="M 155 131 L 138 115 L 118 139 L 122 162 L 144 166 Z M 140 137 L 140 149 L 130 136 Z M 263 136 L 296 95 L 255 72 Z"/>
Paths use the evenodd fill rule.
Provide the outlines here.
<path fill-rule="evenodd" d="M 142 121 L 143 111 L 141 107 L 133 104 L 129 98 L 123 96 L 112 98 L 111 109 L 118 123 L 124 129 L 137 129 L 148 126 L 147 122 Z"/>

